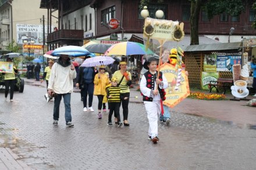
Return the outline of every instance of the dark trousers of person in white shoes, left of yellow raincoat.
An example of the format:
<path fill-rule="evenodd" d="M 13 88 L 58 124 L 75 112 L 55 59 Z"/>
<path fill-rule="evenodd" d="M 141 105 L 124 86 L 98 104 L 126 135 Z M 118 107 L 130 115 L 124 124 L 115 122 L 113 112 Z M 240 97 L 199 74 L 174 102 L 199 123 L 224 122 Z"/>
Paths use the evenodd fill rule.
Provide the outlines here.
<path fill-rule="evenodd" d="M 93 91 L 94 91 L 94 83 L 91 82 L 90 84 L 84 84 L 83 91 L 83 104 L 84 107 L 87 107 L 87 95 L 89 96 L 89 104 L 88 106 L 91 107 L 93 106 Z"/>

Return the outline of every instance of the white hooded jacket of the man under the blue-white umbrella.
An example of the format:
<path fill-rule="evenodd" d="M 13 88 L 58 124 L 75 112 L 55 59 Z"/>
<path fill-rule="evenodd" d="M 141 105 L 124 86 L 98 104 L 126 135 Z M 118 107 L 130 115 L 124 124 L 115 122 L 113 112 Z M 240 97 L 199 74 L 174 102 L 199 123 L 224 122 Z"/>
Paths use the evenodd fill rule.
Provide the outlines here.
<path fill-rule="evenodd" d="M 57 94 L 72 93 L 74 78 L 76 78 L 76 69 L 71 70 L 70 66 L 63 67 L 54 63 L 48 80 L 48 89 L 52 89 Z"/>

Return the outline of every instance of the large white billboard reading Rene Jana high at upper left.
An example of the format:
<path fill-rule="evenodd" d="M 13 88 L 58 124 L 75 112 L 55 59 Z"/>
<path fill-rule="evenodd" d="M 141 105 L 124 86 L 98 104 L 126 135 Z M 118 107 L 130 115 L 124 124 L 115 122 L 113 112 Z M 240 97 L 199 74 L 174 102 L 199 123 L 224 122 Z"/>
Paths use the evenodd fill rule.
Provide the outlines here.
<path fill-rule="evenodd" d="M 45 26 L 45 42 L 47 42 L 47 29 Z M 51 28 L 54 31 L 54 26 Z M 43 42 L 43 27 L 42 25 L 33 25 L 33 24 L 16 24 L 16 33 L 17 33 L 17 44 L 23 44 L 23 41 L 33 40 L 35 44 L 42 44 Z"/>

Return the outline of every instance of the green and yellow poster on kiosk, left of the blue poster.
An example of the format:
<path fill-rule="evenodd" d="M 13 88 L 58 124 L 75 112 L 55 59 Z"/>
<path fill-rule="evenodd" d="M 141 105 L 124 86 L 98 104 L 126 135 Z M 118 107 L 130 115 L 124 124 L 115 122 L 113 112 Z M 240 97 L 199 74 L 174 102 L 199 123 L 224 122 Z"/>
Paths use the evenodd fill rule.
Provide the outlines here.
<path fill-rule="evenodd" d="M 216 54 L 204 55 L 204 71 L 216 73 Z"/>

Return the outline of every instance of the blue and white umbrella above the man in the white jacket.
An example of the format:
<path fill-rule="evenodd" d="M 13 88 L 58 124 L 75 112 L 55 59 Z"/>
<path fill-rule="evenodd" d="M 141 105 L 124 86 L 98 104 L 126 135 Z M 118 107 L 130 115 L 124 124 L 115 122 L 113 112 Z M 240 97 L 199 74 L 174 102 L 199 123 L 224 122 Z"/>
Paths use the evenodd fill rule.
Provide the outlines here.
<path fill-rule="evenodd" d="M 88 54 L 90 54 L 88 50 L 82 48 L 81 46 L 73 46 L 73 45 L 56 48 L 51 53 L 52 56 L 69 55 L 72 57 L 87 56 Z"/>

